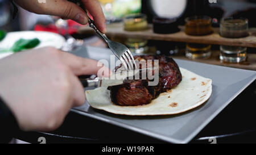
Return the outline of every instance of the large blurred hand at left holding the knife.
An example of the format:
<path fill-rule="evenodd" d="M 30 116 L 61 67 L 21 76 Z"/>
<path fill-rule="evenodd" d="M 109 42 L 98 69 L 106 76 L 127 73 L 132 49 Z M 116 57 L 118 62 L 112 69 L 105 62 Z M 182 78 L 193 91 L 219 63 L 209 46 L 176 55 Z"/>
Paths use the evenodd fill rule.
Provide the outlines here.
<path fill-rule="evenodd" d="M 101 64 L 102 65 L 102 64 Z M 80 75 L 110 70 L 95 60 L 55 48 L 16 53 L 0 60 L 0 97 L 24 131 L 50 131 L 59 127 L 73 106 L 85 103 Z"/>

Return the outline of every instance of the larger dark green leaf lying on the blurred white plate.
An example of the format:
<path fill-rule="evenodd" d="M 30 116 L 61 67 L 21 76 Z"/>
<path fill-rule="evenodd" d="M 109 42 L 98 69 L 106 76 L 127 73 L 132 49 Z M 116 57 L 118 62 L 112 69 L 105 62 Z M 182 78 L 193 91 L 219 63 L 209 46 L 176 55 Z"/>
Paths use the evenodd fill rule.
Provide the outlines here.
<path fill-rule="evenodd" d="M 35 39 L 19 39 L 18 41 L 16 41 L 13 45 L 13 47 L 11 47 L 11 51 L 13 52 L 19 52 L 19 51 L 23 51 L 26 49 L 31 49 L 36 47 L 38 44 L 40 44 L 40 40 L 35 38 Z"/>

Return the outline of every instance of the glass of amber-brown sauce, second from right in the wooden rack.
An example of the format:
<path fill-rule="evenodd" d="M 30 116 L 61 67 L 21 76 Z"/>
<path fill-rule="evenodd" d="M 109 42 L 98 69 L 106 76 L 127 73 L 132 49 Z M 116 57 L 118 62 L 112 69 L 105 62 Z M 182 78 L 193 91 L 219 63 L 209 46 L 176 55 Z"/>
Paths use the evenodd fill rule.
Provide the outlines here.
<path fill-rule="evenodd" d="M 192 16 L 185 19 L 185 33 L 187 35 L 202 36 L 212 33 L 212 18 L 209 16 Z M 186 45 L 186 57 L 209 58 L 211 45 L 209 44 L 191 44 Z"/>

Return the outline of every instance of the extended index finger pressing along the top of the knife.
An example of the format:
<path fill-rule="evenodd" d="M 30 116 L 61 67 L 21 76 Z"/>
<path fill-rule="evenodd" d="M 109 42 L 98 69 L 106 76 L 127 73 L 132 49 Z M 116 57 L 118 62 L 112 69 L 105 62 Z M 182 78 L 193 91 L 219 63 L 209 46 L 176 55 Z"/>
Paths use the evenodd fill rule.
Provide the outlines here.
<path fill-rule="evenodd" d="M 61 60 L 76 76 L 96 74 L 98 77 L 109 77 L 111 74 L 111 70 L 104 64 L 89 58 L 61 52 Z"/>

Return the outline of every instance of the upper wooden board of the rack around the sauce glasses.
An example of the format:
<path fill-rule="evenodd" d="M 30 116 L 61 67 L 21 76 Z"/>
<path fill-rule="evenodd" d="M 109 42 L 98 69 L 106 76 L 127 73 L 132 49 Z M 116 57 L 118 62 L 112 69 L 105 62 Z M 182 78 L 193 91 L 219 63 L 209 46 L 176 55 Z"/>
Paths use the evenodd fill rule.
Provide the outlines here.
<path fill-rule="evenodd" d="M 256 48 L 256 31 L 250 30 L 250 36 L 240 39 L 228 39 L 221 37 L 218 34 L 218 28 L 214 28 L 214 33 L 206 36 L 189 36 L 184 32 L 184 26 L 180 27 L 181 31 L 172 34 L 158 34 L 152 31 L 152 26 L 149 25 L 147 30 L 144 31 L 124 31 L 122 23 L 115 23 L 108 25 L 106 33 L 109 37 L 133 37 L 149 40 L 164 40 L 164 41 L 177 41 L 184 43 L 200 43 L 200 44 L 216 44 L 216 45 L 231 45 L 241 47 Z M 84 26 L 79 29 L 79 33 L 94 33 L 93 29 Z"/>

